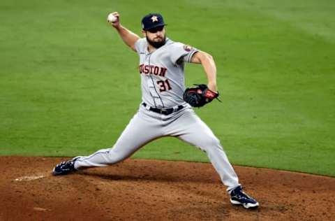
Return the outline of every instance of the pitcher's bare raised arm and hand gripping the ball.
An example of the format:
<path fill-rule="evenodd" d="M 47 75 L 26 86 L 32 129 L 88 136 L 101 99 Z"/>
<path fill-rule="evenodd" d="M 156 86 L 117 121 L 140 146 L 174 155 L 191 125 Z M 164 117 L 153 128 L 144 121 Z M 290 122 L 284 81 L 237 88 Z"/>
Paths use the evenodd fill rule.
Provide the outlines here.
<path fill-rule="evenodd" d="M 128 45 L 132 50 L 136 51 L 135 49 L 135 42 L 140 39 L 137 34 L 133 33 L 132 31 L 126 29 L 126 27 L 123 27 L 120 24 L 120 15 L 117 12 L 112 13 L 115 17 L 117 17 L 117 20 L 115 22 L 109 22 L 108 23 L 112 24 L 112 27 L 114 27 L 117 32 L 119 33 L 119 36 L 122 38 L 124 43 Z"/>

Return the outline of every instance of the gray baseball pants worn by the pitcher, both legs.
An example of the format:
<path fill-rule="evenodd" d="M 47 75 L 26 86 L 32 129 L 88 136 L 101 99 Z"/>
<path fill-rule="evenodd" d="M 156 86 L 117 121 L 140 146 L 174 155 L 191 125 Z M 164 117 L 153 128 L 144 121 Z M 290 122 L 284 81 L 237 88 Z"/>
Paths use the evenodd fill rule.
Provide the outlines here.
<path fill-rule="evenodd" d="M 237 174 L 228 161 L 220 141 L 190 106 L 170 115 L 163 115 L 147 110 L 141 105 L 112 148 L 78 158 L 75 161 L 75 169 L 116 164 L 130 157 L 150 141 L 163 136 L 175 136 L 206 152 L 223 184 L 228 187 L 228 192 L 239 186 Z"/>

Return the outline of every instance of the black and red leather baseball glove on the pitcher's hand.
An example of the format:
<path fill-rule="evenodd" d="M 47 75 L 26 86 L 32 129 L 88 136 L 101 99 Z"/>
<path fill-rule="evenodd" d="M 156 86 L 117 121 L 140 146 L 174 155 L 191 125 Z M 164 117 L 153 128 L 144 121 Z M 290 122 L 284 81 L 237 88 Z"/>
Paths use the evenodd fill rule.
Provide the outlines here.
<path fill-rule="evenodd" d="M 213 99 L 218 99 L 218 93 L 209 90 L 207 85 L 195 86 L 197 87 L 187 88 L 184 92 L 184 101 L 191 106 L 200 108 L 213 101 Z"/>

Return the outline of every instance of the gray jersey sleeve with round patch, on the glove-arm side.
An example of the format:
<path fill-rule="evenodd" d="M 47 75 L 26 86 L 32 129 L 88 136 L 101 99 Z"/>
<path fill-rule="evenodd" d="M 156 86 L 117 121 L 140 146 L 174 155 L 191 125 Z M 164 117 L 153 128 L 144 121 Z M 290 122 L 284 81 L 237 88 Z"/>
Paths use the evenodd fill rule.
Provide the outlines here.
<path fill-rule="evenodd" d="M 179 64 L 180 62 L 191 62 L 191 57 L 198 49 L 185 45 L 183 43 L 174 43 L 172 45 L 171 62 Z"/>

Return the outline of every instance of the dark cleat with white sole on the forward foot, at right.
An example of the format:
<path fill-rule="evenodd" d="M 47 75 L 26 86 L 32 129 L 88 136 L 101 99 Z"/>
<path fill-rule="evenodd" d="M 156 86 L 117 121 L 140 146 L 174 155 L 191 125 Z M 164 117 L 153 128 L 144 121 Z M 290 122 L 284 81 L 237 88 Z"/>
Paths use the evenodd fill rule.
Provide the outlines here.
<path fill-rule="evenodd" d="M 230 192 L 230 202 L 234 205 L 242 205 L 244 208 L 257 208 L 260 206 L 258 201 L 249 197 L 245 192 L 242 191 L 242 187 L 236 187 Z"/>

